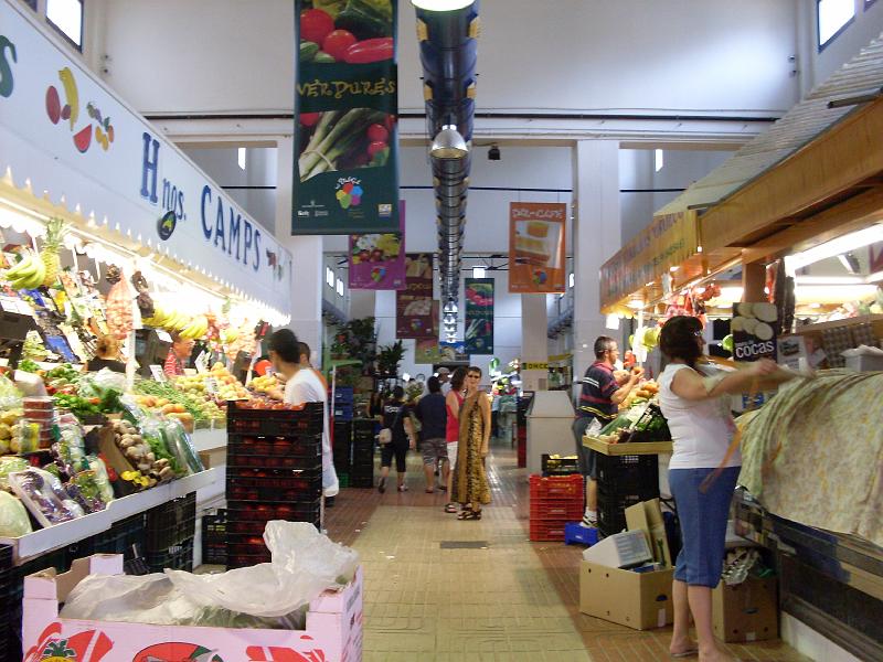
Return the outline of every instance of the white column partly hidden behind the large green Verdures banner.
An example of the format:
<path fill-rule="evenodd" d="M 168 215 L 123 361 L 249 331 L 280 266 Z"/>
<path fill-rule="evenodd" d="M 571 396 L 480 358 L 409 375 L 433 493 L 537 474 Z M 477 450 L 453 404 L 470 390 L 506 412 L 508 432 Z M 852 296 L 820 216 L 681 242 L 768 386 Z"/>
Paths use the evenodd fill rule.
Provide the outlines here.
<path fill-rule="evenodd" d="M 288 284 L 291 330 L 310 345 L 312 362 L 322 357 L 322 237 L 291 236 L 291 178 L 295 148 L 291 137 L 277 141 L 276 239 L 291 252 L 291 282 Z"/>

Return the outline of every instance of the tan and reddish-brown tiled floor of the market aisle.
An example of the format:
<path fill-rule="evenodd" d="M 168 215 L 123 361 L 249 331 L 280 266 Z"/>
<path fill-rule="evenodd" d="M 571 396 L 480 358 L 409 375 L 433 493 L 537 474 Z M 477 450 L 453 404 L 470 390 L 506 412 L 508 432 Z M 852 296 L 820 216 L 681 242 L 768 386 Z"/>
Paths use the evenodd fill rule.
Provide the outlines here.
<path fill-rule="evenodd" d="M 442 511 L 416 455 L 411 491 L 347 489 L 329 535 L 365 568 L 365 662 L 669 660 L 670 629 L 638 632 L 579 613 L 582 547 L 528 542 L 528 484 L 510 449 L 490 461 L 493 503 L 480 522 Z M 474 548 L 443 548 L 457 543 Z M 780 642 L 730 647 L 746 661 L 804 660 Z"/>

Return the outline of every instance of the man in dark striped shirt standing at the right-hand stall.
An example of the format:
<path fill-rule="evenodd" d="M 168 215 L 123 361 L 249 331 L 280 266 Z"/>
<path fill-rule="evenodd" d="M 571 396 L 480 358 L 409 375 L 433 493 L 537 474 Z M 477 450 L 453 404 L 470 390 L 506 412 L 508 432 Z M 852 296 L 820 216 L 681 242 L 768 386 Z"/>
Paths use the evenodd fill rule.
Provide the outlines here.
<path fill-rule="evenodd" d="M 640 367 L 635 367 L 624 380 L 616 380 L 614 364 L 619 360 L 619 346 L 613 338 L 598 337 L 594 350 L 595 363 L 583 377 L 583 391 L 573 423 L 576 457 L 579 458 L 579 470 L 586 480 L 586 510 L 582 522 L 586 527 L 598 525 L 598 473 L 597 456 L 594 450 L 583 446 L 583 437 L 593 420 L 605 426 L 616 418 L 619 403 L 628 397 L 643 374 Z"/>

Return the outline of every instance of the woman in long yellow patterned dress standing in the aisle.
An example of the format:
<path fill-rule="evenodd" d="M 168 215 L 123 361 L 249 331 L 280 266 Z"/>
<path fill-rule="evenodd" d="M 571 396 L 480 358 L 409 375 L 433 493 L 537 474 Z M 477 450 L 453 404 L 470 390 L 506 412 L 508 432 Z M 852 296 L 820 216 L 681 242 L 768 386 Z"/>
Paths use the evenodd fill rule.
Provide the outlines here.
<path fill-rule="evenodd" d="M 466 398 L 460 408 L 460 446 L 451 501 L 464 508 L 458 520 L 480 520 L 481 506 L 490 503 L 485 458 L 490 449 L 490 403 L 479 389 L 481 369 L 470 365 L 466 373 Z"/>

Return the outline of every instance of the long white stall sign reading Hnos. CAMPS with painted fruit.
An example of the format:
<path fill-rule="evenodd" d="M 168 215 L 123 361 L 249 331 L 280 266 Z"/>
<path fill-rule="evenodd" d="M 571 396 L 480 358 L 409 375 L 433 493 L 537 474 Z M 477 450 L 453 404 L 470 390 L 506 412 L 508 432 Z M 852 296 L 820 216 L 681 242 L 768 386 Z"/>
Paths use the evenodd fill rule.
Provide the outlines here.
<path fill-rule="evenodd" d="M 0 196 L 289 312 L 290 253 L 20 2 L 0 2 Z"/>

